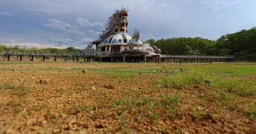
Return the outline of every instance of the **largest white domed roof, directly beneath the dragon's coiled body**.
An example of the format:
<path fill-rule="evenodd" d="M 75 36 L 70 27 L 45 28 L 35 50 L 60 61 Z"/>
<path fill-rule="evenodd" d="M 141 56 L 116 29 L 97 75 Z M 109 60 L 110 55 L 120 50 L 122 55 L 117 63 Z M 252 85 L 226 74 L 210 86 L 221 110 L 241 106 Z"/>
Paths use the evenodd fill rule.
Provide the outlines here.
<path fill-rule="evenodd" d="M 128 43 L 131 40 L 131 36 L 126 32 L 113 34 L 103 40 L 100 44 L 106 43 Z"/>

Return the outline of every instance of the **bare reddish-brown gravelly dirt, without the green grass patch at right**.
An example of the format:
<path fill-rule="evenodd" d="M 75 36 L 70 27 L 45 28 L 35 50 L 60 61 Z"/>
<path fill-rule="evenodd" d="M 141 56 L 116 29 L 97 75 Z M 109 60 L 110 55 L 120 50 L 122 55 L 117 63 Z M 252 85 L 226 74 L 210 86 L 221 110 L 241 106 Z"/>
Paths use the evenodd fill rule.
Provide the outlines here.
<path fill-rule="evenodd" d="M 215 98 L 194 97 L 204 90 L 192 87 L 168 90 L 168 87 L 154 89 L 154 86 L 148 86 L 152 85 L 152 79 L 166 74 L 145 74 L 143 69 L 163 66 L 155 63 L 78 62 L 0 64 L 0 133 L 256 134 L 256 121 L 244 111 L 228 105 L 216 108 Z M 138 71 L 127 77 L 112 77 L 110 73 L 104 76 L 100 72 L 105 68 L 115 71 L 115 67 Z M 83 73 L 83 68 L 91 69 Z M 166 112 L 171 107 L 151 107 L 154 104 L 150 101 L 170 94 L 179 94 L 180 97 L 179 108 L 172 117 Z M 150 103 L 141 103 L 143 97 Z M 141 101 L 134 104 L 127 99 Z M 255 104 L 256 96 L 231 101 L 236 101 L 238 106 Z"/>

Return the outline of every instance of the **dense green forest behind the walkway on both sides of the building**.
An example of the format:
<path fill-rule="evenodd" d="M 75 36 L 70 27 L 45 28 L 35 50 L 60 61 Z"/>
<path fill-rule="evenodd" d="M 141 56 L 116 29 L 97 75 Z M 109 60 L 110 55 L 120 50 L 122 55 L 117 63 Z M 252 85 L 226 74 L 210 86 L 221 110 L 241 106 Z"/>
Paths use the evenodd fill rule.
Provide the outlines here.
<path fill-rule="evenodd" d="M 218 40 L 208 40 L 201 37 L 178 37 L 146 41 L 151 46 L 161 49 L 161 54 L 178 55 L 235 55 L 236 58 L 256 60 L 256 27 L 241 30 L 233 34 L 222 35 Z M 81 53 L 81 49 L 69 46 L 58 48 L 27 48 L 23 46 L 5 46 L 0 44 L 0 51 L 33 51 L 33 52 L 61 52 Z"/>

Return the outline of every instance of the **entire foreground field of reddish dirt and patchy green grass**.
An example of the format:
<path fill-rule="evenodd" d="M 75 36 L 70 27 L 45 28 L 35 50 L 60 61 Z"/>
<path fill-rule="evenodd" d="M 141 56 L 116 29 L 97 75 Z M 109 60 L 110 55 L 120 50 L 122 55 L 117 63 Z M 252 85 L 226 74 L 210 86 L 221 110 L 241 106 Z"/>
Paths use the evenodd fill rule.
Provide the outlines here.
<path fill-rule="evenodd" d="M 1 61 L 0 133 L 256 133 L 255 66 Z"/>

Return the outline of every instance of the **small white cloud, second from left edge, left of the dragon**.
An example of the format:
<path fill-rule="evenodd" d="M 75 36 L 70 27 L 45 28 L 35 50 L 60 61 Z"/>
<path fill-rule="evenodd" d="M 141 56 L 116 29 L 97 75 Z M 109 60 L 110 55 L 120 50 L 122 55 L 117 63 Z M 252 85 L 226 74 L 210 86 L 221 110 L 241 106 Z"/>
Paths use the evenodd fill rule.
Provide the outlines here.
<path fill-rule="evenodd" d="M 48 19 L 48 23 L 41 23 L 42 25 L 46 26 L 47 28 L 58 29 L 60 31 L 66 31 L 66 28 L 72 29 L 69 23 L 64 23 L 58 19 Z"/>

